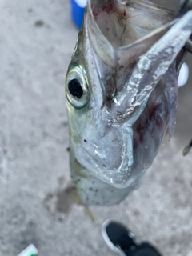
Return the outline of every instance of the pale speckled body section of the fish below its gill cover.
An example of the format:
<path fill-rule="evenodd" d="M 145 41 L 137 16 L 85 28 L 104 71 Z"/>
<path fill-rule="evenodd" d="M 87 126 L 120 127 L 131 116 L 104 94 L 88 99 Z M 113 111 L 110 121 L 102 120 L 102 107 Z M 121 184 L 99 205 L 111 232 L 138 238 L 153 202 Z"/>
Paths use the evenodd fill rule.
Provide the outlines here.
<path fill-rule="evenodd" d="M 142 173 L 136 180 L 132 179 L 130 186 L 119 189 L 110 183 L 103 182 L 100 178 L 92 174 L 90 170 L 83 167 L 75 158 L 73 149 L 70 149 L 70 169 L 78 196 L 81 198 L 81 203 L 84 206 L 112 206 L 122 202 L 127 194 L 130 194 L 132 190 L 139 186 L 144 174 Z"/>

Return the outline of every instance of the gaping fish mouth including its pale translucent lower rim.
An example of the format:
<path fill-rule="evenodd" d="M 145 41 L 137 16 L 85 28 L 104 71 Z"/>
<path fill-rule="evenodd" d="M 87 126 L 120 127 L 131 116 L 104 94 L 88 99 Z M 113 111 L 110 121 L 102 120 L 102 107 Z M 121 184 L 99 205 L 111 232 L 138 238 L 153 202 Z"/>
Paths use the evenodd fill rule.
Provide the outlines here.
<path fill-rule="evenodd" d="M 95 53 L 112 68 L 137 62 L 175 22 L 172 10 L 146 0 L 90 0 L 84 21 Z"/>

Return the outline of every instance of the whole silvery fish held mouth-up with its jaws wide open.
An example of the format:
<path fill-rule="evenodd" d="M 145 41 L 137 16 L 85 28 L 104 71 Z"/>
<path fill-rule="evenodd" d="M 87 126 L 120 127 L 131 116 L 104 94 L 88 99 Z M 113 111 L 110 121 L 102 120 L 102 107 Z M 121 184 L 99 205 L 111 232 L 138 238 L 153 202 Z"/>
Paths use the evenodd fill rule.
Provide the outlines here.
<path fill-rule="evenodd" d="M 191 33 L 191 10 L 88 0 L 66 74 L 70 170 L 83 205 L 122 202 L 172 136 Z"/>

